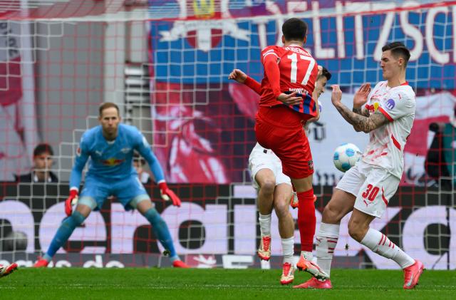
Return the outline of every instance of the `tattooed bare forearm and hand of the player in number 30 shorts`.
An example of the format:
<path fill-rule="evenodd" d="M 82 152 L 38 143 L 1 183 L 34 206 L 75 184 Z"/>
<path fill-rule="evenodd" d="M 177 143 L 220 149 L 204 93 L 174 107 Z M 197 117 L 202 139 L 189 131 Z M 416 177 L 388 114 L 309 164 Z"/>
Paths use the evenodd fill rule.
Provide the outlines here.
<path fill-rule="evenodd" d="M 355 128 L 356 131 L 363 131 L 364 133 L 370 133 L 372 130 L 375 130 L 390 120 L 383 115 L 379 110 L 373 113 L 371 116 L 366 117 L 364 115 L 358 115 L 353 113 L 346 105 L 343 105 L 341 102 L 342 91 L 338 85 L 333 85 L 333 93 L 331 95 L 331 102 L 336 107 L 338 112 L 342 117 Z"/>

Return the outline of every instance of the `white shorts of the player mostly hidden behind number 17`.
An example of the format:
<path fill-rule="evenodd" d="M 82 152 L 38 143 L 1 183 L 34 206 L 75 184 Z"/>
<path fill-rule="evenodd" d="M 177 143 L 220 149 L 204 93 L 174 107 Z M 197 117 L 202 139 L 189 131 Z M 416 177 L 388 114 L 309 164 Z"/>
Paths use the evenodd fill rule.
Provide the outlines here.
<path fill-rule="evenodd" d="M 269 169 L 274 173 L 276 185 L 282 183 L 291 185 L 290 177 L 282 172 L 282 162 L 279 157 L 270 149 L 263 148 L 257 143 L 249 156 L 249 170 L 252 175 L 252 185 L 257 190 L 259 189 L 259 185 L 257 180 L 255 180 L 255 176 L 261 169 Z"/>

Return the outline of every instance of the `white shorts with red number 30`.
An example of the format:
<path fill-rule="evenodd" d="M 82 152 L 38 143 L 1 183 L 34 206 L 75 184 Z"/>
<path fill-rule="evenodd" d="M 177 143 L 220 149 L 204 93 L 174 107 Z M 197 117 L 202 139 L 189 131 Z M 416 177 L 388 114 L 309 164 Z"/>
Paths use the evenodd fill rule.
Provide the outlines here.
<path fill-rule="evenodd" d="M 356 196 L 356 210 L 381 217 L 399 182 L 400 179 L 387 170 L 360 160 L 343 175 L 336 188 Z"/>

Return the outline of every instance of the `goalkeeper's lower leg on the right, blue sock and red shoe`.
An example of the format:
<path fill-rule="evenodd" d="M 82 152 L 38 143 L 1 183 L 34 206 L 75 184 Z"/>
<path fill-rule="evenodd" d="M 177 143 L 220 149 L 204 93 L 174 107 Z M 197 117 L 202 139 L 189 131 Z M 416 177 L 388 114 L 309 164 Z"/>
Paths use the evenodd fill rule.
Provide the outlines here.
<path fill-rule="evenodd" d="M 154 231 L 155 236 L 160 240 L 162 246 L 170 252 L 172 266 L 176 268 L 188 268 L 189 266 L 182 262 L 179 256 L 177 256 L 174 244 L 172 243 L 170 230 L 157 210 L 153 207 L 150 208 L 145 212 L 144 217 L 152 225 L 152 230 Z"/>

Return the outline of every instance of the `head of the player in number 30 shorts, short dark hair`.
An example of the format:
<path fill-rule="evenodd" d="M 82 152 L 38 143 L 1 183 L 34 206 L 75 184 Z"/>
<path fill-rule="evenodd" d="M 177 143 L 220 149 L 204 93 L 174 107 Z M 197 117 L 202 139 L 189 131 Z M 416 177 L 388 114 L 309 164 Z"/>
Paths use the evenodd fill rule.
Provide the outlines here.
<path fill-rule="evenodd" d="M 383 78 L 394 80 L 397 76 L 404 76 L 405 68 L 410 59 L 410 50 L 400 41 L 388 43 L 382 47 L 380 67 L 383 70 Z"/>

